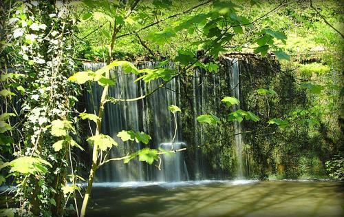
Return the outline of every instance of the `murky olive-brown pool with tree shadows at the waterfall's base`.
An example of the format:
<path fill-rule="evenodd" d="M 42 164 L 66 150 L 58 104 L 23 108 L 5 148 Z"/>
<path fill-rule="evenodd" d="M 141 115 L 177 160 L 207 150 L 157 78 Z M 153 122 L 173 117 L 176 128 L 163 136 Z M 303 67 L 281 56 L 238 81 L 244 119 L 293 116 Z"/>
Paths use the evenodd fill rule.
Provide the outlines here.
<path fill-rule="evenodd" d="M 87 216 L 344 216 L 344 183 L 96 183 Z"/>

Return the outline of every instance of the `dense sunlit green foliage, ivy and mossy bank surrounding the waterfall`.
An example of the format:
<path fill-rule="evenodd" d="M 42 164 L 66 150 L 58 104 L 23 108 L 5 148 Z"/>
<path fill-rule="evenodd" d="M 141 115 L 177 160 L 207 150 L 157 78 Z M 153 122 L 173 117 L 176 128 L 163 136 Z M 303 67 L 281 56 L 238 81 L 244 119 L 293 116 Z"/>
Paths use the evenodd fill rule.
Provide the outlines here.
<path fill-rule="evenodd" d="M 175 151 L 151 148 L 148 132 L 122 129 L 116 135 L 121 141 L 148 145 L 109 158 L 110 149 L 120 147 L 101 132 L 103 112 L 109 103 L 147 99 L 176 78 L 185 91 L 182 106 L 166 107 L 176 126 L 172 143 L 178 116 L 192 147 L 178 152 L 191 155 L 202 149 L 204 161 L 211 162 L 208 169 L 233 174 L 233 123 L 241 123 L 249 178 L 344 179 L 341 2 L 0 4 L 0 185 L 13 187 L 1 194 L 0 216 L 87 216 L 99 167 L 136 158 L 160 167 L 160 156 Z M 240 68 L 244 100 L 230 96 L 223 81 L 214 101 L 219 112 L 206 107 L 195 117 L 186 91 L 192 89 L 190 78 L 202 70 L 212 81 L 224 73 L 225 56 L 246 61 Z M 154 69 L 139 68 L 140 61 L 160 63 Z M 170 61 L 175 68 L 165 67 Z M 83 62 L 105 66 L 84 71 Z M 117 66 L 135 74 L 136 81 L 162 82 L 136 98 L 115 99 L 109 87 L 119 84 L 110 70 Z M 77 110 L 90 83 L 103 87 L 96 114 Z M 213 88 L 211 82 L 204 85 Z M 85 123 L 94 125 L 94 134 L 83 134 L 80 125 Z M 201 127 L 206 138 L 202 147 L 192 144 Z M 221 158 L 215 156 L 218 150 Z M 87 165 L 80 165 L 80 156 L 89 158 Z M 84 182 L 85 191 L 78 185 Z"/>

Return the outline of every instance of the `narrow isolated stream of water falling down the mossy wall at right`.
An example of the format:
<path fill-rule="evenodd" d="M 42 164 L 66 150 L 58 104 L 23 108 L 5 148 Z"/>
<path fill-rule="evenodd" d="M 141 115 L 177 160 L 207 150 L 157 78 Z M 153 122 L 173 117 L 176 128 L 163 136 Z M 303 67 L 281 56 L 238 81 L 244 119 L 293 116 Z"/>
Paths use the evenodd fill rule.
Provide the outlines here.
<path fill-rule="evenodd" d="M 230 78 L 230 90 L 231 96 L 234 96 L 236 99 L 240 100 L 240 83 L 239 83 L 239 61 L 237 59 L 230 59 L 228 61 L 228 74 Z M 233 105 L 233 111 L 239 110 L 240 105 Z M 241 124 L 237 121 L 234 121 L 235 129 L 235 155 L 237 156 L 237 178 L 244 178 L 244 169 L 243 169 L 243 143 L 241 136 Z"/>

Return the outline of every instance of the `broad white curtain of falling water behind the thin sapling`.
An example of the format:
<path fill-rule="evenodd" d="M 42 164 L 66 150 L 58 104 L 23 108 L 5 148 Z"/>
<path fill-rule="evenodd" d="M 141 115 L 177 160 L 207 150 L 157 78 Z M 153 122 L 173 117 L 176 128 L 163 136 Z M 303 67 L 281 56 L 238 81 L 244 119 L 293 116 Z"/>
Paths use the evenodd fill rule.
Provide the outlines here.
<path fill-rule="evenodd" d="M 144 62 L 138 68 L 154 68 L 155 63 Z M 103 67 L 103 63 L 85 63 L 84 70 L 98 70 Z M 173 68 L 173 64 L 168 66 Z M 109 96 L 116 99 L 133 99 L 137 96 L 147 94 L 155 89 L 162 81 L 134 82 L 137 77 L 135 74 L 125 74 L 122 68 L 117 67 L 110 72 L 111 79 L 116 81 L 116 85 L 109 87 Z M 97 83 L 92 83 L 87 87 L 85 93 L 86 110 L 88 113 L 97 113 L 103 87 Z M 136 152 L 138 149 L 147 145 L 127 141 L 123 143 L 117 138 L 116 134 L 121 130 L 134 130 L 145 132 L 152 138 L 148 147 L 163 148 L 167 150 L 179 149 L 186 146 L 182 142 L 180 129 L 182 127 L 178 118 L 178 132 L 173 140 L 175 132 L 175 120 L 173 114 L 168 110 L 169 105 L 179 104 L 178 82 L 173 79 L 164 88 L 146 99 L 139 101 L 123 102 L 116 105 L 107 103 L 105 105 L 103 125 L 101 132 L 108 134 L 118 142 L 117 147 L 113 147 L 109 152 L 109 158 L 125 156 Z M 93 126 L 94 130 L 94 126 Z M 173 143 L 173 146 L 172 146 Z M 129 181 L 181 181 L 189 180 L 189 174 L 184 161 L 184 153 L 163 154 L 160 156 L 161 162 L 154 165 L 147 165 L 133 159 L 124 164 L 122 161 L 111 161 L 98 169 L 96 181 L 98 182 L 129 182 Z M 159 167 L 160 164 L 160 167 Z M 161 170 L 160 170 L 161 169 Z"/>

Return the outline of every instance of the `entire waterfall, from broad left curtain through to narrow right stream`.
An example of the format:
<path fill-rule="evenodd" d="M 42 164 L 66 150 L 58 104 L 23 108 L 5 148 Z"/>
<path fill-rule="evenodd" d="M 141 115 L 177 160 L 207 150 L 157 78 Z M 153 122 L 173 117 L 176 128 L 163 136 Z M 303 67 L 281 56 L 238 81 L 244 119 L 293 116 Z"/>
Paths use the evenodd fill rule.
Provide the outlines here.
<path fill-rule="evenodd" d="M 144 62 L 138 65 L 138 68 L 153 69 L 155 63 Z M 222 73 L 207 74 L 204 70 L 195 70 L 191 81 L 192 99 L 190 105 L 193 111 L 194 123 L 193 126 L 193 141 L 188 141 L 191 145 L 196 147 L 193 152 L 176 152 L 173 154 L 162 154 L 155 165 L 147 165 L 138 159 L 133 159 L 128 164 L 122 161 L 111 161 L 98 169 L 96 174 L 98 182 L 132 182 L 132 181 L 182 181 L 189 180 L 204 180 L 204 179 L 223 179 L 233 174 L 228 174 L 224 171 L 223 164 L 228 164 L 230 158 L 225 154 L 222 147 L 223 139 L 228 140 L 226 134 L 224 137 L 219 134 L 214 128 L 207 125 L 197 123 L 196 118 L 201 114 L 221 115 L 222 110 L 221 99 L 224 96 L 235 96 L 240 99 L 239 92 L 239 63 L 237 59 L 226 59 L 226 70 Z M 103 63 L 85 63 L 84 70 L 98 70 L 103 67 Z M 169 68 L 173 68 L 173 63 L 170 63 Z M 133 99 L 137 96 L 147 94 L 151 90 L 157 88 L 162 81 L 151 81 L 144 83 L 144 81 L 134 82 L 137 77 L 135 74 L 125 74 L 120 67 L 111 70 L 111 79 L 116 81 L 116 85 L 109 88 L 109 96 L 116 99 Z M 181 85 L 180 82 L 185 82 L 180 79 L 173 79 L 167 83 L 163 88 L 160 88 L 149 97 L 140 99 L 139 101 L 122 102 L 116 105 L 108 103 L 105 106 L 102 132 L 109 134 L 117 142 L 118 147 L 114 147 L 109 152 L 109 158 L 118 156 L 125 156 L 127 154 L 136 152 L 138 149 L 147 147 L 147 145 L 129 141 L 123 143 L 116 134 L 122 130 L 134 130 L 137 132 L 145 132 L 152 138 L 149 147 L 165 150 L 177 150 L 188 147 L 188 144 L 182 140 L 182 121 L 180 115 L 177 115 L 177 132 L 175 134 L 175 119 L 173 114 L 167 109 L 169 105 L 181 106 Z M 184 88 L 184 87 L 183 87 Z M 87 86 L 88 92 L 85 94 L 86 110 L 88 113 L 98 112 L 100 96 L 103 87 L 93 83 Z M 185 94 L 185 90 L 183 90 Z M 189 92 L 189 94 L 191 94 Z M 184 112 L 183 107 L 182 112 Z M 234 105 L 233 110 L 239 110 L 239 105 Z M 93 127 L 94 126 L 90 126 Z M 236 177 L 238 179 L 244 178 L 243 166 L 243 143 L 241 138 L 241 125 L 234 122 L 235 128 L 235 158 L 237 165 Z M 93 129 L 94 130 L 94 129 Z M 175 136 L 174 136 L 175 134 Z M 209 135 L 216 135 L 214 138 L 209 138 Z M 211 137 L 211 136 L 210 136 Z M 174 139 L 173 139 L 174 138 Z M 206 149 L 209 141 L 216 139 L 219 142 L 212 146 L 211 152 Z M 193 156 L 186 154 L 193 153 Z M 185 159 L 188 159 L 189 164 L 186 164 Z M 210 161 L 213 161 L 211 163 Z M 230 164 L 230 163 L 229 163 Z M 187 168 L 191 165 L 191 168 Z M 160 170 L 161 169 L 161 170 Z M 191 176 L 189 172 L 191 170 Z"/>

